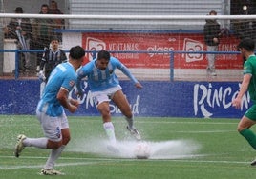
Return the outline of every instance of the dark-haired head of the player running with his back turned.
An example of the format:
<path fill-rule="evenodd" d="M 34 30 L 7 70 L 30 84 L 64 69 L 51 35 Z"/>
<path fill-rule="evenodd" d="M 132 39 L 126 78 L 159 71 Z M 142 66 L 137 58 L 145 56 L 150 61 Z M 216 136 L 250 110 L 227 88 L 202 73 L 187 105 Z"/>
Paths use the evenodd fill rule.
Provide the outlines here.
<path fill-rule="evenodd" d="M 73 64 L 75 70 L 82 65 L 84 55 L 85 51 L 80 46 L 75 46 L 70 49 L 69 61 Z"/>

